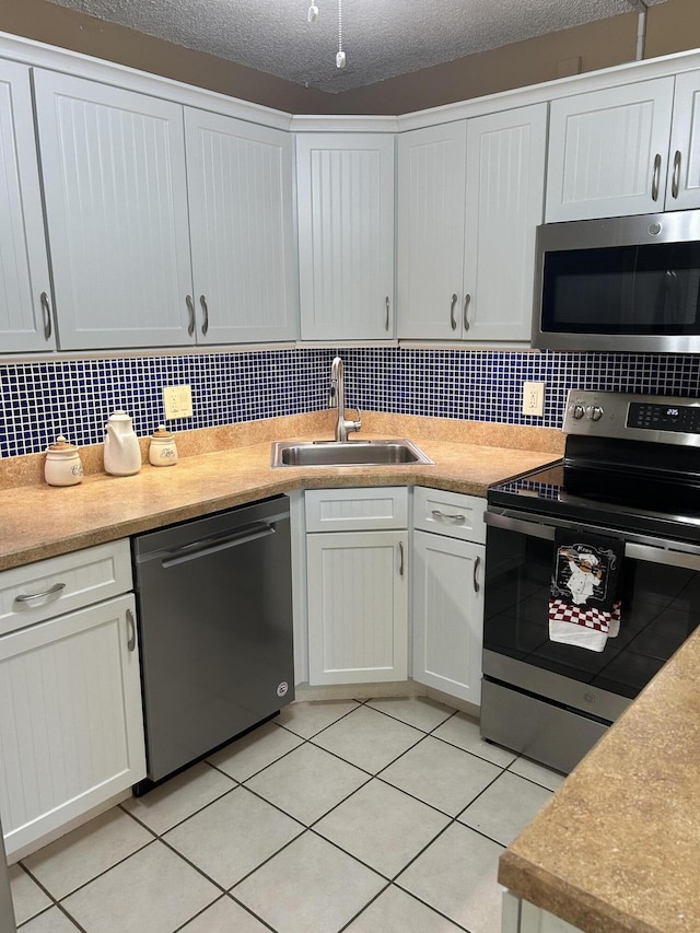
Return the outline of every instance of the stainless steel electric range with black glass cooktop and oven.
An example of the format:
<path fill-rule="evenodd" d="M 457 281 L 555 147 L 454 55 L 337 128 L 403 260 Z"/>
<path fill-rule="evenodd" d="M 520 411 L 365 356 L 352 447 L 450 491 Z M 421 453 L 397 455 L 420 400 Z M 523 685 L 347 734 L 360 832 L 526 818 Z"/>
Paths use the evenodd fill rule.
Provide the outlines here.
<path fill-rule="evenodd" d="M 568 772 L 700 622 L 700 403 L 569 395 L 563 462 L 489 490 L 481 733 Z M 549 640 L 557 528 L 625 544 L 620 633 Z"/>

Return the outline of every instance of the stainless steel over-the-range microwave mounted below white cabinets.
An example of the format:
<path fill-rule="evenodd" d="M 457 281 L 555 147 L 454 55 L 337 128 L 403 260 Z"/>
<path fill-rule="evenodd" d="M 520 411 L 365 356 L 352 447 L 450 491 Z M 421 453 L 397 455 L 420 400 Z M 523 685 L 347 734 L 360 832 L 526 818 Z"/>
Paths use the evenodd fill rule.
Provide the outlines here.
<path fill-rule="evenodd" d="M 537 229 L 533 346 L 700 353 L 700 210 Z"/>

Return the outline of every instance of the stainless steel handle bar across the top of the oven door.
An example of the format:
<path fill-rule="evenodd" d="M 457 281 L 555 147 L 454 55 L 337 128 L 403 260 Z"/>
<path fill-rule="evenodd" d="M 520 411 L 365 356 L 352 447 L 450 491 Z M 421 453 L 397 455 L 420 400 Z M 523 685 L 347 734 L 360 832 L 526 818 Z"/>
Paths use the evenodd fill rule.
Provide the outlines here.
<path fill-rule="evenodd" d="M 557 528 L 571 528 L 582 530 L 582 523 L 567 522 L 559 518 L 547 518 L 547 524 L 533 522 L 528 518 L 514 517 L 512 514 L 487 512 L 483 516 L 486 524 L 494 528 L 504 528 L 509 532 L 520 532 L 533 538 L 542 538 L 553 541 Z M 600 527 L 599 525 L 586 525 L 594 535 L 607 535 L 608 537 L 626 538 L 625 557 L 631 560 L 643 560 L 649 563 L 662 563 L 667 567 L 685 567 L 689 570 L 700 570 L 700 548 L 693 545 L 685 545 L 680 541 L 672 541 L 666 538 L 648 538 L 635 535 L 637 540 L 627 539 L 623 533 L 615 529 Z"/>

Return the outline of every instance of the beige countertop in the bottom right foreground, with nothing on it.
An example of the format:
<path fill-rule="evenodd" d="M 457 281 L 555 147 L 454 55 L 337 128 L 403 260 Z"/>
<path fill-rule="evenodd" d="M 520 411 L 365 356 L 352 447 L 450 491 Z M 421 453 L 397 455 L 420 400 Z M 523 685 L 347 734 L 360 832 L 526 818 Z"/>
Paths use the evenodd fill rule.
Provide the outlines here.
<path fill-rule="evenodd" d="M 586 933 L 700 930 L 700 629 L 501 856 L 499 882 Z"/>

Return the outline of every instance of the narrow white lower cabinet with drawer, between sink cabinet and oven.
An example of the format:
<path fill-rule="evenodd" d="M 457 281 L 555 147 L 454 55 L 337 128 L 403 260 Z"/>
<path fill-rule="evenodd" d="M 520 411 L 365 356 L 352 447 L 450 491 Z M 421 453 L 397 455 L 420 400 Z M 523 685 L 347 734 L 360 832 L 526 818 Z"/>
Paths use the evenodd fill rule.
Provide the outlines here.
<path fill-rule="evenodd" d="M 485 508 L 471 495 L 415 490 L 413 679 L 475 705 L 481 697 Z"/>

